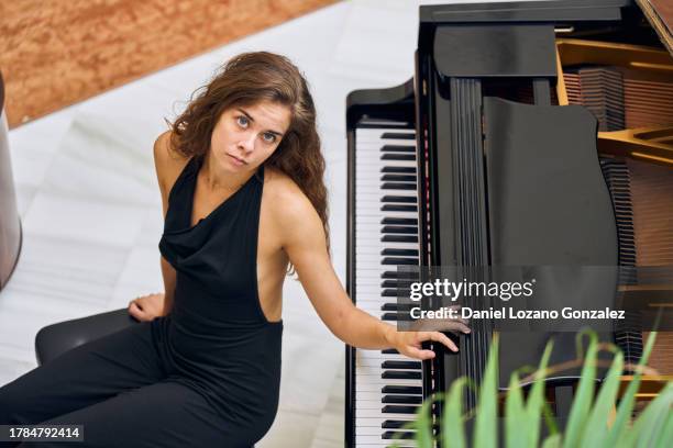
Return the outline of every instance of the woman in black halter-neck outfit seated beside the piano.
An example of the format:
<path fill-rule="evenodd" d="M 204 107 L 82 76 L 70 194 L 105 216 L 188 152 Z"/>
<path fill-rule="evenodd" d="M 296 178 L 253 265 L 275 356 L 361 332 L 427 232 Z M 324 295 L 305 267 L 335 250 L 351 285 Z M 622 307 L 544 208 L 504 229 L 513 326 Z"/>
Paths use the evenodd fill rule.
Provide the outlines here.
<path fill-rule="evenodd" d="M 0 389 L 0 424 L 79 424 L 91 446 L 250 447 L 277 410 L 288 268 L 346 344 L 418 359 L 433 356 L 423 340 L 456 350 L 442 333 L 398 333 L 345 294 L 328 250 L 313 101 L 285 57 L 231 59 L 154 156 L 166 293 L 132 301 L 141 324 Z"/>

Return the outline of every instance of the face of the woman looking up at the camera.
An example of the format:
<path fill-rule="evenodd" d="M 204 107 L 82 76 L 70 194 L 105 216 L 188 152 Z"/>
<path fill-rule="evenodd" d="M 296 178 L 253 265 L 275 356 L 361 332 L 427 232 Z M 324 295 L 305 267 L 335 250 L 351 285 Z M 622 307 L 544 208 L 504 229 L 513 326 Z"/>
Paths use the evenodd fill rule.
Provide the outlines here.
<path fill-rule="evenodd" d="M 276 150 L 289 124 L 289 108 L 271 101 L 229 108 L 212 131 L 211 157 L 227 171 L 254 171 Z"/>

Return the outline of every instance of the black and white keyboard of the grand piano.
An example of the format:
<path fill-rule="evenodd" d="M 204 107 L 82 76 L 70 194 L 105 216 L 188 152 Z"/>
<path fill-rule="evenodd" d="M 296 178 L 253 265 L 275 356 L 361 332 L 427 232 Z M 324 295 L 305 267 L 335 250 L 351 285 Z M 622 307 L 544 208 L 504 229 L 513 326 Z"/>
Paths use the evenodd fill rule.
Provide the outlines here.
<path fill-rule="evenodd" d="M 398 265 L 419 264 L 416 133 L 355 131 L 355 304 L 397 324 Z M 396 350 L 355 349 L 355 446 L 413 447 L 422 402 L 421 361 Z"/>

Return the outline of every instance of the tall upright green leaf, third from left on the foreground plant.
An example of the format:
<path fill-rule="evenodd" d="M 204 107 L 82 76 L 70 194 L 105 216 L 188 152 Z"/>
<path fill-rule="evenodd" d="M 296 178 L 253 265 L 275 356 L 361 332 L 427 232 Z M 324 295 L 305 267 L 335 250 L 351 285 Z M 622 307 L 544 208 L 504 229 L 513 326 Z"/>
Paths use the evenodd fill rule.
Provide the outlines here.
<path fill-rule="evenodd" d="M 474 446 L 496 448 L 498 438 L 498 336 L 493 337 L 488 352 L 486 372 L 478 395 L 476 423 L 474 426 Z"/>

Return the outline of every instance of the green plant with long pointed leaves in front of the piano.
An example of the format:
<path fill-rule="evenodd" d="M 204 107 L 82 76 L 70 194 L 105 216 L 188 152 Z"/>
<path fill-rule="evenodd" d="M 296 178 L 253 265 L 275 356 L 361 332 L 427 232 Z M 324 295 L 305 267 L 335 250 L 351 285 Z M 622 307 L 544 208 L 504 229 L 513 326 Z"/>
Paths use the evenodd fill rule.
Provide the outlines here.
<path fill-rule="evenodd" d="M 463 410 L 463 392 L 472 384 L 467 378 L 455 380 L 445 396 L 439 446 L 441 448 L 467 447 L 467 422 L 473 419 L 472 445 L 477 448 L 498 446 L 498 430 L 504 430 L 501 440 L 508 448 L 543 447 L 671 447 L 673 446 L 673 382 L 668 382 L 659 395 L 631 422 L 646 362 L 652 351 L 655 333 L 651 333 L 646 344 L 642 358 L 626 392 L 618 399 L 620 378 L 625 368 L 624 354 L 613 344 L 599 344 L 592 332 L 577 335 L 577 347 L 581 348 L 583 336 L 588 336 L 586 355 L 580 357 L 582 373 L 565 430 L 558 429 L 551 410 L 544 397 L 544 379 L 550 372 L 563 367 L 548 367 L 552 351 L 550 341 L 542 355 L 538 370 L 530 377 L 532 385 L 527 396 L 523 394 L 518 372 L 510 377 L 505 396 L 505 415 L 503 425 L 498 422 L 498 339 L 494 337 L 488 355 L 488 362 L 479 388 L 478 404 L 474 410 Z M 607 376 L 596 394 L 596 371 L 600 361 L 600 350 L 613 355 Z M 578 350 L 578 352 L 581 352 Z M 419 448 L 433 447 L 432 421 L 430 418 L 431 401 L 420 407 L 417 419 L 410 425 L 416 429 L 416 445 Z M 544 422 L 549 436 L 542 440 L 541 424 Z"/>

